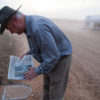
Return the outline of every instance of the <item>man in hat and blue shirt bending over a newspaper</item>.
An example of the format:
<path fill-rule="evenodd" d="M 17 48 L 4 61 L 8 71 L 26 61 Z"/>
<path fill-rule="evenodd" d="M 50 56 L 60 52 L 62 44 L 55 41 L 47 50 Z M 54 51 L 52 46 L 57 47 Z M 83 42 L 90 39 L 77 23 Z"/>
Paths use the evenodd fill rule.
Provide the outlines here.
<path fill-rule="evenodd" d="M 0 10 L 0 33 L 6 28 L 11 34 L 26 34 L 30 51 L 25 54 L 32 54 L 41 64 L 26 72 L 24 78 L 32 80 L 43 74 L 43 100 L 62 100 L 71 64 L 71 43 L 51 20 L 25 16 L 18 9 L 5 6 Z"/>

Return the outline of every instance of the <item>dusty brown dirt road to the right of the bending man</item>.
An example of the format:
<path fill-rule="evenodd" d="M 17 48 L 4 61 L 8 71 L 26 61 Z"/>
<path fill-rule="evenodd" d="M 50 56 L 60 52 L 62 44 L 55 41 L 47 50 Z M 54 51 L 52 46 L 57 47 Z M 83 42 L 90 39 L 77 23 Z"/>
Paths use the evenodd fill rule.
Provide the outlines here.
<path fill-rule="evenodd" d="M 73 46 L 65 100 L 100 100 L 100 30 L 86 29 L 80 21 L 59 21 L 58 24 Z"/>

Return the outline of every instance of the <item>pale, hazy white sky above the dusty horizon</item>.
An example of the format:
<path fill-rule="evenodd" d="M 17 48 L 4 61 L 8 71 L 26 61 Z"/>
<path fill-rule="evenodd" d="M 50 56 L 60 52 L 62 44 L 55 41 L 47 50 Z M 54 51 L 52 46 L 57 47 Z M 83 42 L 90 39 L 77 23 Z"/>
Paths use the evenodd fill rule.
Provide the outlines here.
<path fill-rule="evenodd" d="M 82 19 L 87 15 L 100 15 L 100 0 L 0 0 L 24 14 L 38 14 L 50 18 Z"/>

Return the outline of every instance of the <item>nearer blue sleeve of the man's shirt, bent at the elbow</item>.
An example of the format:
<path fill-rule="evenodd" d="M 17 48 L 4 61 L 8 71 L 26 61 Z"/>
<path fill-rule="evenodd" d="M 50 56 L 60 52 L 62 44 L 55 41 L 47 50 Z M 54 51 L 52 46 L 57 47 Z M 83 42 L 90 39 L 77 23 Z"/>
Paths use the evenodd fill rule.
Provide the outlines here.
<path fill-rule="evenodd" d="M 40 47 L 43 62 L 35 69 L 35 72 L 37 74 L 46 74 L 57 64 L 60 59 L 60 53 L 50 31 L 40 29 L 37 32 L 36 40 Z"/>

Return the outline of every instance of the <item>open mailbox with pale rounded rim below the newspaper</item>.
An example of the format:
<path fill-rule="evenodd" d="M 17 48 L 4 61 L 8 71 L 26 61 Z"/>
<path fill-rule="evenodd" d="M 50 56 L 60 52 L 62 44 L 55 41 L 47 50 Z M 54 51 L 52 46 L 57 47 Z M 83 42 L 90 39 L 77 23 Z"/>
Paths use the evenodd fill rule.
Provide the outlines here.
<path fill-rule="evenodd" d="M 32 88 L 28 85 L 6 85 L 1 100 L 25 100 L 31 94 Z"/>

